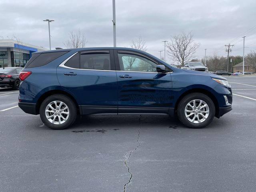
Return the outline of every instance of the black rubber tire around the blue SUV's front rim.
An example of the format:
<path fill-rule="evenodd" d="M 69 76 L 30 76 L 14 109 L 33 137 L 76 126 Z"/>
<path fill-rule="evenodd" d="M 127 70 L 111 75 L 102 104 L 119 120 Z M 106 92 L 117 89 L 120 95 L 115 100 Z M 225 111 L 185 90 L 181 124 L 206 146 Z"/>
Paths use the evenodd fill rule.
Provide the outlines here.
<path fill-rule="evenodd" d="M 190 122 L 190 120 L 188 120 L 186 118 L 185 115 L 185 108 L 187 106 L 188 103 L 190 103 L 192 100 L 202 100 L 204 101 L 208 107 L 209 107 L 209 114 L 208 117 L 206 118 L 206 120 L 204 120 L 203 122 L 199 122 L 199 123 L 193 123 Z M 199 101 L 198 101 L 199 102 Z M 190 107 L 187 108 L 188 110 L 190 110 Z M 198 111 L 198 110 L 196 110 Z M 194 111 L 193 111 L 194 113 Z M 215 116 L 215 106 L 214 103 L 212 102 L 212 100 L 206 96 L 205 94 L 202 93 L 190 93 L 186 96 L 184 96 L 179 104 L 178 104 L 178 108 L 177 108 L 177 114 L 178 114 L 178 118 L 180 120 L 180 122 L 182 122 L 182 124 L 184 124 L 185 126 L 188 126 L 189 128 L 204 128 L 205 126 L 207 126 L 208 124 L 210 124 L 210 122 L 212 122 L 212 120 L 214 119 Z M 189 114 L 189 113 L 188 113 Z M 192 114 L 192 112 L 191 112 Z M 201 113 L 204 114 L 204 113 Z M 199 116 L 200 114 L 198 114 Z M 204 114 L 206 115 L 206 114 Z M 190 118 L 193 118 L 195 116 L 195 114 L 192 114 Z M 202 120 L 202 116 L 199 116 L 199 119 L 201 118 Z M 196 121 L 198 122 L 197 118 L 195 118 Z"/>

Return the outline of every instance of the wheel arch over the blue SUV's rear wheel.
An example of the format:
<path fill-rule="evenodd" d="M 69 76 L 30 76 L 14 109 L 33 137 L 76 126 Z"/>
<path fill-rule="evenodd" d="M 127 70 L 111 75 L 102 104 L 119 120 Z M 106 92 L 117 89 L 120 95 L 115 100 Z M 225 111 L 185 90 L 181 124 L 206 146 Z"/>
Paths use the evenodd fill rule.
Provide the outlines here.
<path fill-rule="evenodd" d="M 82 114 L 81 112 L 81 109 L 78 105 L 78 103 L 76 102 L 76 99 L 71 95 L 69 94 L 68 92 L 64 91 L 64 90 L 50 90 L 48 92 L 45 92 L 44 94 L 42 94 L 38 101 L 36 102 L 36 114 L 39 114 L 39 111 L 40 111 L 40 106 L 42 104 L 42 102 L 48 97 L 48 96 L 51 96 L 51 95 L 54 95 L 54 94 L 63 94 L 63 95 L 66 95 L 68 96 L 69 98 L 71 98 L 74 103 L 76 104 L 76 108 L 77 108 L 77 111 L 78 111 L 78 114 Z"/>

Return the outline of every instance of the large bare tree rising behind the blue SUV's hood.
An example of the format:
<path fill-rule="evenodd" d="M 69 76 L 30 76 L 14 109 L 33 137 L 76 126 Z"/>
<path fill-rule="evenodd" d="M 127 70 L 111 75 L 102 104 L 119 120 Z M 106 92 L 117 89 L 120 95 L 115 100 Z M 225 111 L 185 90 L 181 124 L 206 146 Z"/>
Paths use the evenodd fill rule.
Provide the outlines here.
<path fill-rule="evenodd" d="M 199 46 L 200 43 L 194 42 L 191 32 L 188 34 L 182 32 L 180 35 L 172 36 L 172 39 L 166 45 L 169 58 L 180 62 L 182 66 L 185 62 L 193 59 Z"/>

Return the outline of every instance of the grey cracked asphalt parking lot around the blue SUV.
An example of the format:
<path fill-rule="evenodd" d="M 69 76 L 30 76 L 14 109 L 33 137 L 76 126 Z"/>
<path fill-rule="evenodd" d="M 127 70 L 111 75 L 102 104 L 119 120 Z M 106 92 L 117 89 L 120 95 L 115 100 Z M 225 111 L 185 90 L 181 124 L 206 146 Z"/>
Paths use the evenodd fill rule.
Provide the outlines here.
<path fill-rule="evenodd" d="M 255 192 L 256 76 L 203 129 L 169 116 L 86 116 L 51 130 L 0 89 L 1 192 Z"/>

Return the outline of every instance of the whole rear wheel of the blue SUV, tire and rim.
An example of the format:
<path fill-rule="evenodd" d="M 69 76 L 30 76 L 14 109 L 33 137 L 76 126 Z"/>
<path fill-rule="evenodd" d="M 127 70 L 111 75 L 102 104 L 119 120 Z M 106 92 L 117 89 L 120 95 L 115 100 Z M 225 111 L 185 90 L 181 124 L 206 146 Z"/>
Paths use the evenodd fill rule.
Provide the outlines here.
<path fill-rule="evenodd" d="M 55 94 L 47 97 L 40 106 L 40 118 L 49 128 L 68 128 L 76 120 L 76 104 L 68 96 Z"/>

